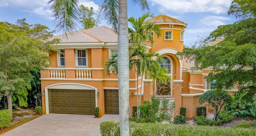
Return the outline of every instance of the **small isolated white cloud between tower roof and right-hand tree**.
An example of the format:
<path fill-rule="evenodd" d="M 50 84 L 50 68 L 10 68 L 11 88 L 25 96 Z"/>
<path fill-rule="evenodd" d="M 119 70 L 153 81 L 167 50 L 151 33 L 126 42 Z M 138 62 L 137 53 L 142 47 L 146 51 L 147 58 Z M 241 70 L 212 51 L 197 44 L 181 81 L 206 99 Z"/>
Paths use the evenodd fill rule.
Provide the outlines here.
<path fill-rule="evenodd" d="M 224 16 L 206 16 L 200 22 L 206 26 L 220 26 L 225 24 L 221 20 L 230 20 L 230 18 Z"/>

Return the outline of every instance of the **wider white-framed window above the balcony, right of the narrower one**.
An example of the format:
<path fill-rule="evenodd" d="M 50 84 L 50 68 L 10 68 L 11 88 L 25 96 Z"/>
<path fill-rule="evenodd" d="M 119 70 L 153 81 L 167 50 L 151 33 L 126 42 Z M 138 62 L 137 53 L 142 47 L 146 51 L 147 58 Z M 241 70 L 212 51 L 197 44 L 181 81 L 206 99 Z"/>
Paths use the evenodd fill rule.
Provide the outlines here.
<path fill-rule="evenodd" d="M 87 50 L 77 49 L 76 50 L 76 66 L 87 66 Z"/>

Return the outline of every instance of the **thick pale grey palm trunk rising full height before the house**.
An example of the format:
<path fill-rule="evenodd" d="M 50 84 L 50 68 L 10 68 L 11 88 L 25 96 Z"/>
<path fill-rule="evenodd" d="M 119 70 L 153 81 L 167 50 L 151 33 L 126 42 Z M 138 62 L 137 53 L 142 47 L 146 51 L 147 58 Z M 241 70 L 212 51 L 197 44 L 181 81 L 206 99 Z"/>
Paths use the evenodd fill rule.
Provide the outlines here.
<path fill-rule="evenodd" d="M 118 0 L 118 88 L 120 136 L 129 136 L 129 42 L 127 0 Z"/>

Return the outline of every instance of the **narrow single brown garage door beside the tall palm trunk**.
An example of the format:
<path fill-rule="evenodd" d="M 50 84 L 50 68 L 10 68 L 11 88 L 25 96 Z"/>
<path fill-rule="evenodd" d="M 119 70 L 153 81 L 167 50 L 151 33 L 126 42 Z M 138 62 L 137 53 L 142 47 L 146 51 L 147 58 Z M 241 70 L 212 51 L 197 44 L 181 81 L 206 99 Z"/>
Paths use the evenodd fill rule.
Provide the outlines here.
<path fill-rule="evenodd" d="M 105 114 L 119 114 L 118 90 L 105 91 Z"/>

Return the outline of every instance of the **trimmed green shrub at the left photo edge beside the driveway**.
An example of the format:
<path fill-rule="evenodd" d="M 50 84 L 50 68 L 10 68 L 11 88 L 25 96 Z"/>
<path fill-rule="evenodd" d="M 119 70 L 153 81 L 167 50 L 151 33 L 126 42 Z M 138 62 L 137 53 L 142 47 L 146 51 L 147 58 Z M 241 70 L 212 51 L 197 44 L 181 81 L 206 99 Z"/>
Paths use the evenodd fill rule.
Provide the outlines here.
<path fill-rule="evenodd" d="M 0 110 L 0 128 L 5 128 L 12 122 L 12 110 Z"/>

